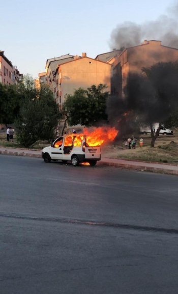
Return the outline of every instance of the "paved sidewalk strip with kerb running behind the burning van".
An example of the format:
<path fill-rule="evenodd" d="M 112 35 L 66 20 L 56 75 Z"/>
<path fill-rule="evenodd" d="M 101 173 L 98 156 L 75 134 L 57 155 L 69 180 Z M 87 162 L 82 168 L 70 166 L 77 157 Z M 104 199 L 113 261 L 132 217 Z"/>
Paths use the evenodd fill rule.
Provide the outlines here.
<path fill-rule="evenodd" d="M 0 154 L 16 155 L 16 156 L 29 156 L 29 157 L 41 157 L 41 150 L 32 149 L 18 149 L 10 147 L 0 147 Z M 114 159 L 114 158 L 102 158 L 97 163 L 99 166 L 113 166 L 123 169 L 132 169 L 138 171 L 149 171 L 162 174 L 178 175 L 178 165 L 160 164 L 160 163 L 147 163 L 139 161 L 130 161 L 127 159 Z"/>

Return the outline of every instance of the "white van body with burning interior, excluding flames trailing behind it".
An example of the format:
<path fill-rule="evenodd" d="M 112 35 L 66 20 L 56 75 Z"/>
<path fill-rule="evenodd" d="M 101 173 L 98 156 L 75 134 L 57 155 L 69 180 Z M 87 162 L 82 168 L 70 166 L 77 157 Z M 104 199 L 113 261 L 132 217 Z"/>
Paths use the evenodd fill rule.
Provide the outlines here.
<path fill-rule="evenodd" d="M 71 161 L 73 166 L 85 162 L 95 166 L 97 161 L 101 160 L 101 146 L 88 146 L 87 136 L 62 136 L 51 146 L 43 148 L 42 158 L 45 163 L 61 160 L 63 163 Z"/>

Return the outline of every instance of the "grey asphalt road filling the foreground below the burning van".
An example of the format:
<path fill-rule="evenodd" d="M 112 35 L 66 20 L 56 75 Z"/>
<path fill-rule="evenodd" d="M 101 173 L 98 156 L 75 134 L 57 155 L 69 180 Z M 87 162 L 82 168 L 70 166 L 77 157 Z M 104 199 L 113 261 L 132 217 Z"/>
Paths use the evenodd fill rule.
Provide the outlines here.
<path fill-rule="evenodd" d="M 1 294 L 178 292 L 176 176 L 0 155 Z"/>

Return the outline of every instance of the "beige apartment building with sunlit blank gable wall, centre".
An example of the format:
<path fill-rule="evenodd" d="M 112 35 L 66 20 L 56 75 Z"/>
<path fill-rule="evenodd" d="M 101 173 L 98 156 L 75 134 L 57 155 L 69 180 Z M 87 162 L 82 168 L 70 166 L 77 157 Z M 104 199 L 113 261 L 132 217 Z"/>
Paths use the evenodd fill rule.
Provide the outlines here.
<path fill-rule="evenodd" d="M 58 64 L 53 74 L 55 81 L 53 92 L 56 103 L 65 101 L 67 94 L 73 94 L 75 89 L 87 89 L 92 85 L 105 84 L 110 92 L 111 65 L 96 59 L 75 56 L 72 61 Z"/>

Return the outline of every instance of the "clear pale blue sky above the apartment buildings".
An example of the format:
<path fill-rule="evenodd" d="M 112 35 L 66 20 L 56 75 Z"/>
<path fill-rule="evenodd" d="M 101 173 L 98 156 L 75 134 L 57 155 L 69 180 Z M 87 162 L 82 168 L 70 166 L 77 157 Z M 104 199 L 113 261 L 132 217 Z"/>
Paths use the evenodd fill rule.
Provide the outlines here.
<path fill-rule="evenodd" d="M 6 0 L 0 5 L 0 50 L 20 73 L 37 77 L 46 60 L 61 55 L 96 58 L 112 49 L 120 24 L 155 21 L 171 0 Z"/>

